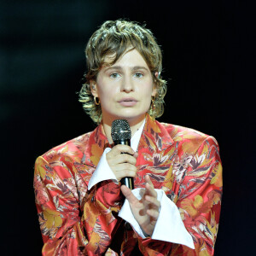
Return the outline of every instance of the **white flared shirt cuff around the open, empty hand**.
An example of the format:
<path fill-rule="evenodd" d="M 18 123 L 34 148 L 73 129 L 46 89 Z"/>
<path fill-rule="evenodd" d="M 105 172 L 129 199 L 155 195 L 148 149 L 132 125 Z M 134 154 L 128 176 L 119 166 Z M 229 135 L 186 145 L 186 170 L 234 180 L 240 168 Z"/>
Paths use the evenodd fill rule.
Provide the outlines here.
<path fill-rule="evenodd" d="M 133 189 L 132 193 L 137 197 L 138 200 L 141 199 L 139 195 L 140 189 Z M 180 217 L 180 213 L 177 206 L 166 196 L 165 192 L 161 189 L 155 189 L 157 192 L 157 200 L 160 201 L 160 215 L 154 227 L 154 232 L 151 236 L 154 240 L 169 241 L 177 244 L 183 244 L 187 247 L 195 249 L 192 236 L 186 230 L 183 221 Z M 131 207 L 129 201 L 125 199 L 125 203 L 119 212 L 119 217 L 125 219 L 129 222 L 137 234 L 142 238 L 143 230 L 137 223 L 136 219 L 133 217 L 131 212 Z"/>

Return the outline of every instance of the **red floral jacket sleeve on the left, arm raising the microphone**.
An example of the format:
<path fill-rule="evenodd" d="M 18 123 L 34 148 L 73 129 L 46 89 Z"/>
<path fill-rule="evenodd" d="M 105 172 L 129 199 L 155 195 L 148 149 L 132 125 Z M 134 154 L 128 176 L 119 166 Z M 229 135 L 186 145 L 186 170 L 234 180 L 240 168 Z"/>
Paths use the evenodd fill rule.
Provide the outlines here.
<path fill-rule="evenodd" d="M 118 223 L 113 212 L 119 209 L 119 186 L 100 183 L 89 193 L 74 169 L 68 160 L 36 160 L 34 189 L 43 255 L 100 255 Z"/>

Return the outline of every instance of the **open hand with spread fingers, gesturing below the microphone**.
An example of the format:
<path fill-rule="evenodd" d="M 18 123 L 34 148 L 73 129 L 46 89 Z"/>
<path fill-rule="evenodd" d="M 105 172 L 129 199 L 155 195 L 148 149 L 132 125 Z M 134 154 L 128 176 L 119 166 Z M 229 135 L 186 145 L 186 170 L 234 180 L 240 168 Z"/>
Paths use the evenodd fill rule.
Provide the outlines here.
<path fill-rule="evenodd" d="M 140 201 L 132 194 L 131 189 L 128 189 L 125 185 L 121 186 L 121 190 L 130 203 L 131 212 L 137 223 L 144 233 L 152 236 L 159 217 L 160 201 L 157 200 L 157 193 L 148 175 L 146 175 L 145 180 L 146 187 L 141 189 L 142 199 Z"/>

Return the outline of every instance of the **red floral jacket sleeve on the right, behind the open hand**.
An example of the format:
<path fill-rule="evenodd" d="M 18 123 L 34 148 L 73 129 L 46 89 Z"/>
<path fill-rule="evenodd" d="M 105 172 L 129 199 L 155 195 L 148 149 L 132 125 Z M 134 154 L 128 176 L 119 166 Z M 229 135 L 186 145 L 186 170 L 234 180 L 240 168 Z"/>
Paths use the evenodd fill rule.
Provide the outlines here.
<path fill-rule="evenodd" d="M 177 207 L 195 249 L 138 237 L 143 255 L 213 255 L 222 195 L 222 165 L 218 143 L 207 137 L 190 158 L 177 190 Z"/>

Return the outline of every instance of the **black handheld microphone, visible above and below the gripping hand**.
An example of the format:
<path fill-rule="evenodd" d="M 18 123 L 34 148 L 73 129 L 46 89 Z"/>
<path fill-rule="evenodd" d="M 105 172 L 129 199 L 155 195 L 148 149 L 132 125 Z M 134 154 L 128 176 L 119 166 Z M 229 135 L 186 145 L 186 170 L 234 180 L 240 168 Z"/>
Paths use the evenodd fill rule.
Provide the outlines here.
<path fill-rule="evenodd" d="M 131 146 L 131 129 L 130 125 L 125 119 L 113 120 L 111 126 L 111 137 L 114 145 L 128 145 Z M 134 189 L 133 177 L 123 177 L 121 184 L 129 189 Z"/>

